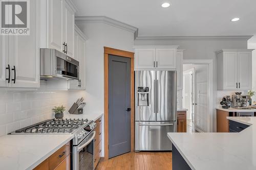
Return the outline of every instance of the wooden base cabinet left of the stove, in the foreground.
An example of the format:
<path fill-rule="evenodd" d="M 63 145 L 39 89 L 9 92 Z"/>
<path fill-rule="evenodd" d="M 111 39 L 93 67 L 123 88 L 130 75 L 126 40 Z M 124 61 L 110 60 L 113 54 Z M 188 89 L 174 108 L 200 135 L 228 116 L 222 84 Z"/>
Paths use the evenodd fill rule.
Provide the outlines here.
<path fill-rule="evenodd" d="M 58 151 L 53 153 L 49 158 L 44 160 L 34 170 L 70 170 L 71 155 L 70 142 L 66 143 Z"/>

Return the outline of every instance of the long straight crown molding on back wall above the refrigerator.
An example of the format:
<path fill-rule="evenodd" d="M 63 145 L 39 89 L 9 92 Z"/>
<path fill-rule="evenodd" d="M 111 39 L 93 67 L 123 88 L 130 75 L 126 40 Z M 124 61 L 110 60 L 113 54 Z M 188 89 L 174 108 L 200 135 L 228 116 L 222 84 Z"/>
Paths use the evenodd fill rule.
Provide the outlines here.
<path fill-rule="evenodd" d="M 247 41 L 253 35 L 245 36 L 166 36 L 166 37 L 136 37 L 135 41 L 174 41 L 174 40 L 241 40 Z"/>

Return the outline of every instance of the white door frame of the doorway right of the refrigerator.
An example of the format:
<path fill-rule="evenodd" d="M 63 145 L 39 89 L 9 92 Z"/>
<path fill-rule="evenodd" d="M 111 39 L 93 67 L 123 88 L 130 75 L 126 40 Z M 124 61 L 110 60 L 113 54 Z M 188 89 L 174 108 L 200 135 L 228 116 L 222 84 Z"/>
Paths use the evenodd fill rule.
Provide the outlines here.
<path fill-rule="evenodd" d="M 213 93 L 213 66 L 212 66 L 213 60 L 212 59 L 195 59 L 195 60 L 183 59 L 183 64 L 207 64 L 208 65 L 208 74 L 207 74 L 208 75 L 208 127 L 207 127 L 207 132 L 212 132 L 213 113 L 214 113 L 213 102 L 216 97 L 216 96 L 214 96 L 214 93 Z"/>

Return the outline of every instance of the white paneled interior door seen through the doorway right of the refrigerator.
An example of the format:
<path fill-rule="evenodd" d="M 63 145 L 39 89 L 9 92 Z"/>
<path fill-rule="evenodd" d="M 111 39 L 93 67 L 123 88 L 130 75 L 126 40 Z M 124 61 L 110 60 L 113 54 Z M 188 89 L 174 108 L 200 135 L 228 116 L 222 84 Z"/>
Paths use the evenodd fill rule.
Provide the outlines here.
<path fill-rule="evenodd" d="M 195 64 L 194 124 L 196 130 L 208 132 L 208 65 Z"/>

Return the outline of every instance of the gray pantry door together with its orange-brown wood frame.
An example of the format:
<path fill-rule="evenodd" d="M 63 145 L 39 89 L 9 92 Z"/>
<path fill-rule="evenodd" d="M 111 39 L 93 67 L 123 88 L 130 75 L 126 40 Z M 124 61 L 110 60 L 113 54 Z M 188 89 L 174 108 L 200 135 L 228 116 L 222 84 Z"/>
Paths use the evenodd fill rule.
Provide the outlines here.
<path fill-rule="evenodd" d="M 134 53 L 104 47 L 105 160 L 134 151 L 134 65 L 132 63 L 134 63 Z"/>

